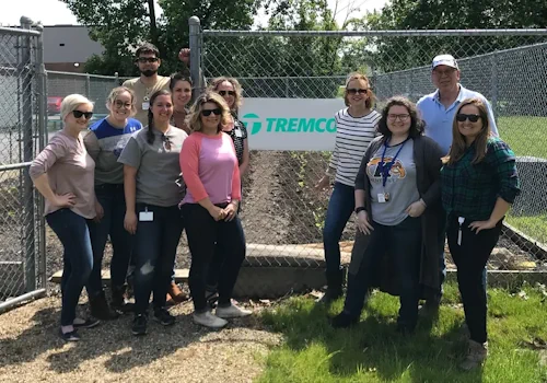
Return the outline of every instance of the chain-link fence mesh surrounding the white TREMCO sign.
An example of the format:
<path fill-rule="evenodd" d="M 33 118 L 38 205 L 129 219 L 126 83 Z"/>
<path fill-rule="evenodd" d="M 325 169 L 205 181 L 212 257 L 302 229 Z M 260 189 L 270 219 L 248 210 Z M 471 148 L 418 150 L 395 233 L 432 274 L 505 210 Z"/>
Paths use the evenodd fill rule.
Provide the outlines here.
<path fill-rule="evenodd" d="M 337 97 L 347 73 L 361 70 L 371 80 L 377 108 L 393 95 L 416 102 L 432 93 L 431 60 L 452 54 L 458 60 L 462 84 L 491 102 L 500 135 L 519 156 L 522 195 L 507 218 L 509 227 L 489 268 L 547 269 L 545 31 L 361 35 L 205 31 L 199 48 L 205 76 L 237 78 L 246 97 Z M 321 264 L 329 194 L 315 190 L 314 185 L 329 156 L 329 152 L 252 152 L 242 219 L 247 242 L 254 244 L 249 255 L 259 255 L 259 264 L 276 264 L 271 257 L 261 257 L 266 248 L 284 258 L 283 263 L 296 255 L 300 266 Z M 342 260 L 349 259 L 354 231 L 350 220 L 342 236 Z"/>

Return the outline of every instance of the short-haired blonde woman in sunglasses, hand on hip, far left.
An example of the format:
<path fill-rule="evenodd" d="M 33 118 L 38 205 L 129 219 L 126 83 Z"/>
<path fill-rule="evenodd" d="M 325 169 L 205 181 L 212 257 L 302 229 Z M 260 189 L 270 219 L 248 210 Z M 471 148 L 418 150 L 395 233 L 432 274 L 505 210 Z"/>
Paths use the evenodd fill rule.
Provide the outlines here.
<path fill-rule="evenodd" d="M 88 220 L 97 216 L 93 187 L 95 162 L 88 153 L 81 132 L 93 116 L 93 104 L 80 94 L 61 103 L 62 130 L 55 135 L 31 164 L 30 175 L 45 198 L 46 221 L 63 247 L 60 337 L 80 340 L 79 327 L 93 327 L 97 320 L 77 317 L 78 300 L 93 269 Z"/>

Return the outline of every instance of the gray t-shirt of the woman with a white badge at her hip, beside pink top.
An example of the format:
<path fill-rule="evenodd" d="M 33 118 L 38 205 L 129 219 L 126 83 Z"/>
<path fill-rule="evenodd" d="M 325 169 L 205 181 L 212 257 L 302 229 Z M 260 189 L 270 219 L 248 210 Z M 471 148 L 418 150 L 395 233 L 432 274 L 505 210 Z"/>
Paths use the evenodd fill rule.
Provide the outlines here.
<path fill-rule="evenodd" d="M 148 127 L 133 134 L 118 162 L 137 167 L 137 202 L 162 207 L 177 205 L 182 188 L 176 184 L 181 174 L 179 154 L 188 135 L 173 126 L 163 135 L 154 131 L 154 142 L 147 141 Z"/>

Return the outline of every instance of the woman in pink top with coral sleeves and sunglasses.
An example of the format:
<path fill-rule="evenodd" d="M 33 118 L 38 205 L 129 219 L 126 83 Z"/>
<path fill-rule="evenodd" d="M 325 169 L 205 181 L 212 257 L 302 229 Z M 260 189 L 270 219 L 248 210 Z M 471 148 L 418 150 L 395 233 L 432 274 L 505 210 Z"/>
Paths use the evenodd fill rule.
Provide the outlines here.
<path fill-rule="evenodd" d="M 220 328 L 224 318 L 251 315 L 232 303 L 232 291 L 245 258 L 245 236 L 237 217 L 241 179 L 233 141 L 222 132 L 230 109 L 214 92 L 199 96 L 189 117 L 193 134 L 181 152 L 181 169 L 187 187 L 182 210 L 191 254 L 189 286 L 194 322 Z M 206 300 L 207 270 L 218 251 L 223 254 L 216 314 Z"/>

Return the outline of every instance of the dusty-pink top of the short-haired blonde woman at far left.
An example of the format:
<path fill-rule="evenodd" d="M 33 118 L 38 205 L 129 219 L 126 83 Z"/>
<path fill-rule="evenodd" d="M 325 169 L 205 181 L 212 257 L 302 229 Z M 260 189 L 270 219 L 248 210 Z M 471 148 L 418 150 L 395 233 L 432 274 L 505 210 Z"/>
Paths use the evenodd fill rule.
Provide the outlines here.
<path fill-rule="evenodd" d="M 82 138 L 74 138 L 60 130 L 31 164 L 31 178 L 34 181 L 47 173 L 49 186 L 57 195 L 72 193 L 75 204 L 73 212 L 83 218 L 95 217 L 94 190 L 95 161 L 88 154 Z M 60 209 L 46 199 L 45 214 Z"/>

